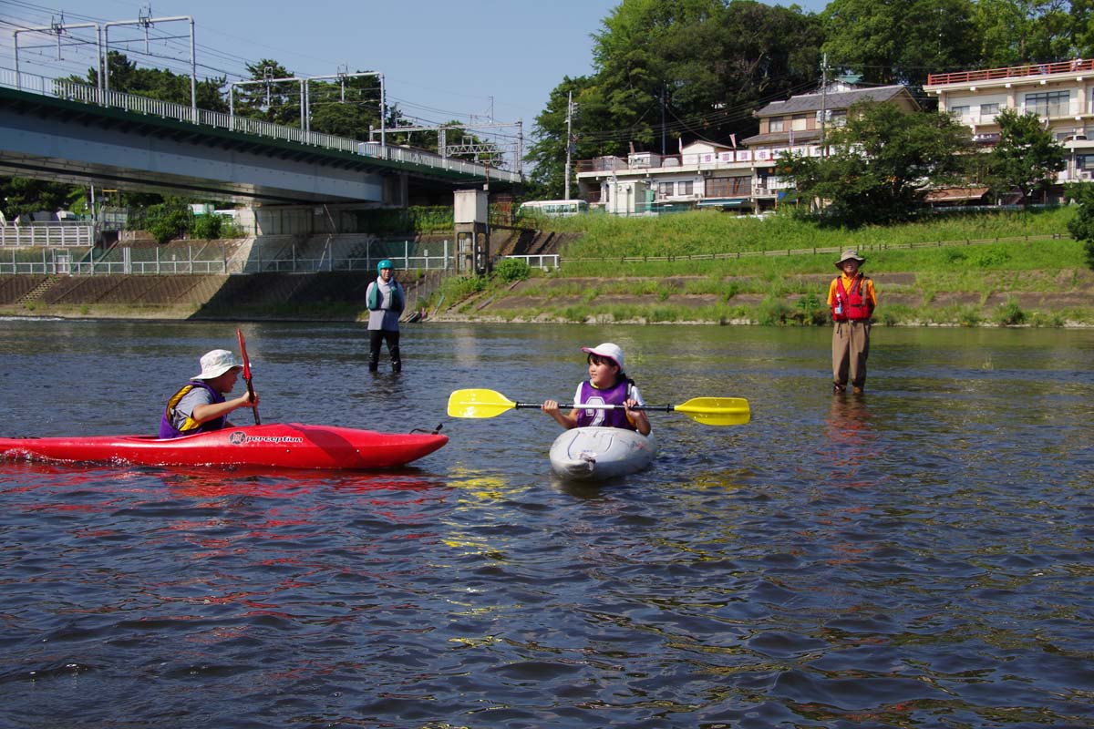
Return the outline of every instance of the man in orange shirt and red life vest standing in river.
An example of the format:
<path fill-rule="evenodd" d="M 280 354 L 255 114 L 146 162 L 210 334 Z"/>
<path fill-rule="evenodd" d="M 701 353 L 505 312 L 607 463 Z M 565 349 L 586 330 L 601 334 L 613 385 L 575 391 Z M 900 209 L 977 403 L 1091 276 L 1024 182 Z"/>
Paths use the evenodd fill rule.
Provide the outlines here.
<path fill-rule="evenodd" d="M 845 250 L 836 261 L 841 275 L 828 286 L 831 309 L 831 391 L 847 391 L 850 379 L 856 395 L 866 386 L 866 357 L 870 355 L 870 317 L 877 306 L 874 282 L 862 275 L 859 267 L 866 259 L 856 250 Z"/>

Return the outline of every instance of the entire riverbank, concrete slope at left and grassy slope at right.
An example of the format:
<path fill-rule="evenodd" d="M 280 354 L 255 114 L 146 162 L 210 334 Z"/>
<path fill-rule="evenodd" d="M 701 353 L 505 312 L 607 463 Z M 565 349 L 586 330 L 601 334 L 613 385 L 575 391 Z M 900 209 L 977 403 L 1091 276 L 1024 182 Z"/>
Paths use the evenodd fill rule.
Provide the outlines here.
<path fill-rule="evenodd" d="M 822 326 L 838 251 L 857 248 L 876 319 L 908 326 L 1094 326 L 1094 271 L 1068 236 L 1074 209 L 933 216 L 885 228 L 821 228 L 717 212 L 545 221 L 561 268 L 514 280 L 403 272 L 426 320 Z M 543 236 L 550 238 L 551 236 Z M 543 251 L 546 252 L 546 251 Z M 0 278 L 0 315 L 66 318 L 366 318 L 369 277 Z"/>

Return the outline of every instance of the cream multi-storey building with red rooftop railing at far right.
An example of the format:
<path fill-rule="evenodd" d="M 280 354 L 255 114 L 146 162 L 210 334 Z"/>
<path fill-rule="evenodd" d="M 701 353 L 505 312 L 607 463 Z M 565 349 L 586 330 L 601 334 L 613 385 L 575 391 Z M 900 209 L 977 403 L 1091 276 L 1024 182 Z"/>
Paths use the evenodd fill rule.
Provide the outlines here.
<path fill-rule="evenodd" d="M 923 90 L 939 97 L 939 111 L 969 127 L 978 144 L 999 141 L 996 115 L 1011 108 L 1045 120 L 1067 150 L 1058 183 L 1094 178 L 1094 60 L 932 73 Z"/>

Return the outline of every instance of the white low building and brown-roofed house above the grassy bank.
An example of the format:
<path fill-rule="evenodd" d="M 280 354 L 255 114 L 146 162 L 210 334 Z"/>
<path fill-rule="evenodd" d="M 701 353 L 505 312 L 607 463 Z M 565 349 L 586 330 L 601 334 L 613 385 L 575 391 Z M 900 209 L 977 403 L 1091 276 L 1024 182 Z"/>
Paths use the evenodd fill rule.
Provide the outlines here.
<path fill-rule="evenodd" d="M 919 109 L 905 86 L 858 87 L 837 81 L 754 113 L 759 133 L 731 144 L 696 141 L 678 154 L 631 152 L 577 165 L 578 189 L 590 205 L 614 214 L 657 214 L 691 208 L 742 213 L 773 210 L 791 185 L 775 174 L 782 152 L 821 156 L 827 130 L 847 120 L 861 101 Z"/>

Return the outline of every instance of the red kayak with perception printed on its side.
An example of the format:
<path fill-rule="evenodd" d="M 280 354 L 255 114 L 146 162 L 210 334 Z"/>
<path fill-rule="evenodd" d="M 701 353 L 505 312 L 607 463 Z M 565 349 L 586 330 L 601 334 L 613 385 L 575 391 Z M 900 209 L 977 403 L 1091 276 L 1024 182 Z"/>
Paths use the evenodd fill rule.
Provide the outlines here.
<path fill-rule="evenodd" d="M 166 440 L 151 435 L 0 438 L 0 459 L 360 470 L 406 466 L 447 442 L 446 435 L 435 433 L 274 423 Z"/>

